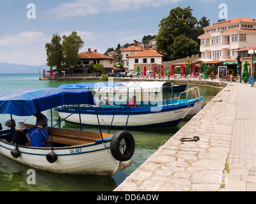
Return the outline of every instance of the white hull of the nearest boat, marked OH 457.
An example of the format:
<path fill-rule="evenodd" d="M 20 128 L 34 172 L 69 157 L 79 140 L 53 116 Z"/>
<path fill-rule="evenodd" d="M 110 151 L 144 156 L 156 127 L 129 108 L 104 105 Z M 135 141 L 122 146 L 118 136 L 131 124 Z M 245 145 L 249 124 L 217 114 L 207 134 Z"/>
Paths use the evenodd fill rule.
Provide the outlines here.
<path fill-rule="evenodd" d="M 106 147 L 105 147 L 106 145 Z M 46 155 L 51 152 L 50 147 L 35 148 L 19 146 L 20 157 L 15 159 L 10 153 L 14 145 L 0 140 L 0 152 L 19 163 L 33 168 L 53 171 L 57 173 L 114 175 L 120 161 L 117 161 L 110 152 L 110 142 L 98 145 L 77 145 L 73 147 L 54 148 L 58 156 L 54 163 L 49 163 Z"/>

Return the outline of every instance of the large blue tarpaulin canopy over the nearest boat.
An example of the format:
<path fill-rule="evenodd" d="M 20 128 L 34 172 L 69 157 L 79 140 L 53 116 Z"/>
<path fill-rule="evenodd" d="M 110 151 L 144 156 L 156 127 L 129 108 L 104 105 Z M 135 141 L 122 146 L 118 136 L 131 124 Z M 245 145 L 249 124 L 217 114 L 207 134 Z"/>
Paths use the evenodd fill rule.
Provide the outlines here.
<path fill-rule="evenodd" d="M 0 113 L 30 116 L 61 105 L 95 105 L 93 94 L 73 89 L 22 89 L 0 96 Z"/>

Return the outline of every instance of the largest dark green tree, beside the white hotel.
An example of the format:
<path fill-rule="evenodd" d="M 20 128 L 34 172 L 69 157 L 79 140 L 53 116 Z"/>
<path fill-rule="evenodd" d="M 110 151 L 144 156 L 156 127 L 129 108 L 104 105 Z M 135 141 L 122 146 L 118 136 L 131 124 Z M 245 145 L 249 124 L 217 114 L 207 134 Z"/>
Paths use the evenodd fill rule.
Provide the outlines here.
<path fill-rule="evenodd" d="M 170 55 L 171 59 L 178 59 L 183 57 L 184 54 L 198 54 L 199 45 L 198 41 L 198 21 L 192 15 L 192 9 L 190 6 L 187 8 L 173 8 L 170 11 L 168 17 L 163 18 L 159 24 L 159 33 L 156 36 L 157 40 L 157 51 L 164 51 L 166 54 Z M 180 38 L 178 38 L 180 37 Z M 178 54 L 172 54 L 173 52 L 173 43 L 175 47 L 178 48 L 180 41 L 184 42 L 189 40 L 186 43 L 186 46 L 183 47 L 182 56 Z M 188 52 L 188 48 L 192 48 L 191 52 Z M 196 48 L 195 48 L 196 47 Z M 179 48 L 179 50 L 181 47 Z"/>

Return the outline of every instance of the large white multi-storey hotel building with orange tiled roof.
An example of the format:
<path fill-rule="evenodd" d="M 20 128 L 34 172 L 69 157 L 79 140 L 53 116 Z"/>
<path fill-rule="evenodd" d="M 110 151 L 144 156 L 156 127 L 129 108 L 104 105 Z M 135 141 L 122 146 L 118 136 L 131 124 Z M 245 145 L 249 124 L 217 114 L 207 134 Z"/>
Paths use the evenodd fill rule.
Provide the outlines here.
<path fill-rule="evenodd" d="M 256 45 L 256 20 L 234 18 L 204 27 L 199 36 L 202 61 L 236 59 L 237 50 Z"/>

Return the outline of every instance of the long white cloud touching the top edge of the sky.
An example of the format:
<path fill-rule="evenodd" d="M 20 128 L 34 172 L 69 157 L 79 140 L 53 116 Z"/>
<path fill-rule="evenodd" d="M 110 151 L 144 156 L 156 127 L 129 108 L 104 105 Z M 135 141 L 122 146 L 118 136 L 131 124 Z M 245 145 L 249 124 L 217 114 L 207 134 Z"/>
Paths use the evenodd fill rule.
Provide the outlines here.
<path fill-rule="evenodd" d="M 53 8 L 50 13 L 58 17 L 93 15 L 104 11 L 121 12 L 140 8 L 159 7 L 182 0 L 74 0 Z"/>

